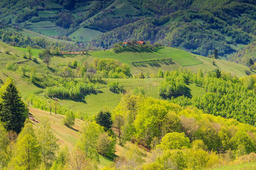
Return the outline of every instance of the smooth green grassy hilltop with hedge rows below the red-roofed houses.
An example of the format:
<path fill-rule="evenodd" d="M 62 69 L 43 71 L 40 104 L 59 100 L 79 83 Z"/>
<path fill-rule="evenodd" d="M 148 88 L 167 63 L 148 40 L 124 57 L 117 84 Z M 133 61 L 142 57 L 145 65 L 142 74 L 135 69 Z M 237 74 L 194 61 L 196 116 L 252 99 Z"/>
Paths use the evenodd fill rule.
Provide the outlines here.
<path fill-rule="evenodd" d="M 156 74 L 159 69 L 164 71 L 170 71 L 179 69 L 180 67 L 187 68 L 193 73 L 196 73 L 199 68 L 204 71 L 212 71 L 216 69 L 216 66 L 223 71 L 230 72 L 233 75 L 245 76 L 245 70 L 249 70 L 248 67 L 239 65 L 234 62 L 229 62 L 221 59 L 212 59 L 189 52 L 184 50 L 164 47 L 157 52 L 152 53 L 114 53 L 112 50 L 106 51 L 96 51 L 89 53 L 92 57 L 97 58 L 113 58 L 121 61 L 123 63 L 128 63 L 131 67 L 132 74 L 148 73 Z M 143 63 L 143 65 L 133 65 L 132 62 L 137 61 L 148 61 L 150 59 L 168 59 L 172 58 L 174 63 L 159 62 L 156 65 L 150 65 L 148 63 Z M 88 61 L 92 62 L 92 58 L 88 58 Z M 213 61 L 216 66 L 213 65 Z"/>

